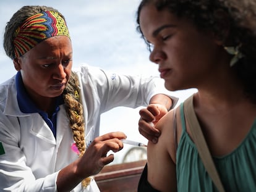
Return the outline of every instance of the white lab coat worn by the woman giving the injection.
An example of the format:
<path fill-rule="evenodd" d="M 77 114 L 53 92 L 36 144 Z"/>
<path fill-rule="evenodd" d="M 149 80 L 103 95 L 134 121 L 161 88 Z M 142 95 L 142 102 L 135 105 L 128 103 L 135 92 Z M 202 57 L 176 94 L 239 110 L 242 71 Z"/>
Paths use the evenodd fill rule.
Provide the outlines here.
<path fill-rule="evenodd" d="M 77 70 L 80 81 L 88 144 L 99 135 L 100 115 L 113 107 L 146 106 L 160 93 L 153 78 L 119 76 L 84 65 Z M 176 98 L 174 98 L 176 102 Z M 64 105 L 57 116 L 56 139 L 40 114 L 23 114 L 17 103 L 15 77 L 0 85 L 1 191 L 57 191 L 59 170 L 78 158 Z M 99 191 L 95 181 L 88 191 Z M 81 184 L 72 191 L 81 191 Z"/>

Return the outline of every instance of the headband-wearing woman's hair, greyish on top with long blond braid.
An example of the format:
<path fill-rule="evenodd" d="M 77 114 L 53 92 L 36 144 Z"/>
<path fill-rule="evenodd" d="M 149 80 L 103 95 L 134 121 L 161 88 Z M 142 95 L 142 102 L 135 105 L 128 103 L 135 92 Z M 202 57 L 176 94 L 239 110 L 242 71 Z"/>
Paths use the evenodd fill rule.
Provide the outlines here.
<path fill-rule="evenodd" d="M 43 11 L 56 11 L 53 7 L 46 6 L 23 6 L 12 16 L 11 20 L 7 22 L 4 33 L 4 50 L 7 56 L 14 59 L 14 38 L 15 30 L 22 25 L 22 23 L 32 15 Z M 65 20 L 64 16 L 59 13 Z M 80 151 L 79 156 L 83 156 L 85 152 L 85 122 L 83 118 L 83 107 L 79 101 L 79 80 L 77 75 L 72 72 L 69 82 L 63 92 L 64 104 L 69 118 L 69 126 L 73 132 L 73 137 L 77 148 Z M 90 184 L 90 177 L 82 181 L 83 186 Z"/>

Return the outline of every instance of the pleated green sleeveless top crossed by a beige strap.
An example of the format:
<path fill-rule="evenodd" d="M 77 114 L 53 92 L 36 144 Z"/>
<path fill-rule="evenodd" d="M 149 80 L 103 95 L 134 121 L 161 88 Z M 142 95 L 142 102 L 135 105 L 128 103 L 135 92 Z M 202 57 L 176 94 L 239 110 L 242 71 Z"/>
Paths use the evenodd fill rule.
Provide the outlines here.
<path fill-rule="evenodd" d="M 182 135 L 176 154 L 177 191 L 218 191 L 203 166 L 195 144 L 186 132 L 181 104 Z M 226 192 L 256 191 L 256 120 L 242 143 L 230 154 L 213 157 Z"/>

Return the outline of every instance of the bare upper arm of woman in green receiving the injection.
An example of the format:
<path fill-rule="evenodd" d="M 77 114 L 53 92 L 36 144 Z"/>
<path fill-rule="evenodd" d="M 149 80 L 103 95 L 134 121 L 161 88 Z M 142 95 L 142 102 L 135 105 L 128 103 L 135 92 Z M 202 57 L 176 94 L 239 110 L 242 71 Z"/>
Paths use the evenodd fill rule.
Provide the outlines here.
<path fill-rule="evenodd" d="M 177 191 L 173 111 L 166 114 L 157 124 L 161 130 L 158 143 L 148 143 L 148 182 L 160 191 Z"/>

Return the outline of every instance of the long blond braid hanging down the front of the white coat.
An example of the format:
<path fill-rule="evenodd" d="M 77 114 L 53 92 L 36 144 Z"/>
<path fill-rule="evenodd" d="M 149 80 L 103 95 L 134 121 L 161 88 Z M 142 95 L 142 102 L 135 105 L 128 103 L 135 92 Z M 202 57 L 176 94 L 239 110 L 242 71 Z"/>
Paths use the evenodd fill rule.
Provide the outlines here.
<path fill-rule="evenodd" d="M 79 157 L 85 153 L 85 120 L 83 118 L 83 106 L 79 101 L 79 80 L 77 75 L 72 72 L 64 90 L 64 102 L 67 116 L 69 117 L 69 125 L 73 132 L 73 137 L 77 149 L 79 149 Z M 88 186 L 91 178 L 87 177 L 82 181 L 82 186 Z"/>

